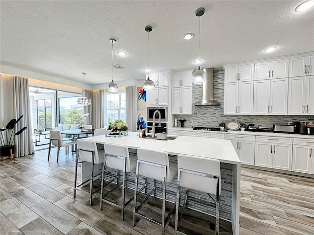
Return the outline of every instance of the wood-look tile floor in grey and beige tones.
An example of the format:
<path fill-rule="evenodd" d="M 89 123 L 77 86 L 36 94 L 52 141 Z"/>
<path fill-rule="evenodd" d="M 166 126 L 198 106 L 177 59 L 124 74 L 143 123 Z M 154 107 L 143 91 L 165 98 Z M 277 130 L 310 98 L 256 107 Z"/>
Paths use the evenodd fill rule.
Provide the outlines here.
<path fill-rule="evenodd" d="M 158 235 L 160 228 L 137 218 L 132 227 L 131 203 L 121 221 L 121 210 L 103 203 L 99 193 L 89 205 L 89 195 L 77 191 L 73 199 L 75 154 L 56 149 L 47 161 L 48 149 L 34 155 L 0 162 L 0 235 Z M 79 177 L 79 176 L 78 176 Z M 241 168 L 240 235 L 314 235 L 314 179 Z M 133 191 L 127 189 L 126 197 Z M 140 196 L 139 196 L 140 197 Z M 114 191 L 111 200 L 121 201 Z M 149 207 L 153 207 L 150 208 Z M 150 199 L 143 210 L 152 217 L 161 214 L 159 199 Z M 167 205 L 170 207 L 170 205 Z M 191 235 L 214 234 L 214 218 L 184 211 L 182 230 Z M 174 234 L 174 214 L 166 234 Z M 220 234 L 230 235 L 230 223 L 220 222 Z"/>

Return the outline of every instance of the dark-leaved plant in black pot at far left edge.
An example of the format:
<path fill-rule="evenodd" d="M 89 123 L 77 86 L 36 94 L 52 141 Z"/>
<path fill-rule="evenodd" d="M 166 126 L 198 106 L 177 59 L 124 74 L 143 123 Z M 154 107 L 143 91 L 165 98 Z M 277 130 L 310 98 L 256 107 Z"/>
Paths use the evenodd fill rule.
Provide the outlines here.
<path fill-rule="evenodd" d="M 27 128 L 27 126 L 25 126 L 18 132 L 14 133 L 15 125 L 22 119 L 22 117 L 23 115 L 17 120 L 15 118 L 11 119 L 9 123 L 6 125 L 5 129 L 0 129 L 1 132 L 0 153 L 2 157 L 10 156 L 12 160 L 12 156 L 14 154 L 14 136 L 20 135 Z"/>

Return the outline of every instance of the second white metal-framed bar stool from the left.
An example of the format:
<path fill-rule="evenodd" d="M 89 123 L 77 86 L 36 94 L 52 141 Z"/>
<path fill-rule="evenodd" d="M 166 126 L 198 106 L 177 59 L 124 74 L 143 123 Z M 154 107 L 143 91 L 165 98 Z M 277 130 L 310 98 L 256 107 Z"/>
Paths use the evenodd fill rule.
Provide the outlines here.
<path fill-rule="evenodd" d="M 133 200 L 133 197 L 128 201 L 125 202 L 125 188 L 127 184 L 127 174 L 135 170 L 136 168 L 136 160 L 131 159 L 129 156 L 128 147 L 123 145 L 105 143 L 105 164 L 103 164 L 102 170 L 102 186 L 101 186 L 101 193 L 100 193 L 100 210 L 103 210 L 103 202 L 109 203 L 110 205 L 116 206 L 121 208 L 121 220 L 124 220 L 124 209 L 129 203 Z M 106 166 L 106 168 L 105 168 Z M 104 185 L 105 180 L 105 171 L 108 169 L 117 169 L 117 176 L 111 179 Z M 122 171 L 122 181 L 119 182 L 119 171 Z M 106 187 L 111 182 L 117 180 L 117 186 L 112 188 L 110 191 L 104 194 L 104 187 Z M 115 189 L 119 188 L 122 185 L 122 204 L 118 205 L 113 201 L 105 199 L 105 196 L 114 191 Z"/>

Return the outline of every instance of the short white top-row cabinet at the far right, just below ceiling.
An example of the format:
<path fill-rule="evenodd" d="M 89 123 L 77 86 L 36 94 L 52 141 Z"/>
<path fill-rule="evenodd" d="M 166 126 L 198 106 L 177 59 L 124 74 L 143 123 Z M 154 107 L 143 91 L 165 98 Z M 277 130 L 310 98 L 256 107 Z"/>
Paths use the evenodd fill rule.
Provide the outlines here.
<path fill-rule="evenodd" d="M 314 55 L 289 59 L 289 77 L 314 75 Z"/>

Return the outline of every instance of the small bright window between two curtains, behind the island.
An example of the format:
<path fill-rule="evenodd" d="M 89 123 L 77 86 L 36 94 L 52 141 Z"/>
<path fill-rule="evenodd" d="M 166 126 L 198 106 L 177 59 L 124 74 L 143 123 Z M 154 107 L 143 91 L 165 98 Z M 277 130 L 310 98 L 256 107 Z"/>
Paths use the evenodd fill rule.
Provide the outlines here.
<path fill-rule="evenodd" d="M 106 125 L 116 119 L 126 120 L 126 93 L 110 93 L 107 94 L 106 101 Z"/>

